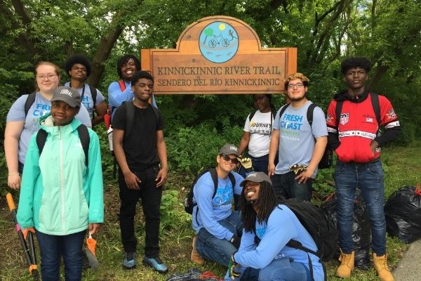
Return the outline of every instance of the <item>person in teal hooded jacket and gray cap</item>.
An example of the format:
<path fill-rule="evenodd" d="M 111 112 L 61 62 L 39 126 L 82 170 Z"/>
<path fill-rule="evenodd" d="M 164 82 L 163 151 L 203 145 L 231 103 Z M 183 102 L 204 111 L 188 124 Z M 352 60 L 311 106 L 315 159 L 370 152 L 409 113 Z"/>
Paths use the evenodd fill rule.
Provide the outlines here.
<path fill-rule="evenodd" d="M 47 133 L 41 153 L 32 136 L 25 158 L 18 223 L 35 228 L 41 253 L 43 280 L 60 280 L 60 256 L 66 280 L 81 280 L 81 244 L 89 229 L 98 233 L 104 221 L 102 168 L 98 136 L 88 130 L 88 164 L 85 161 L 74 115 L 81 96 L 59 87 L 51 100 L 51 115 L 40 120 Z"/>

